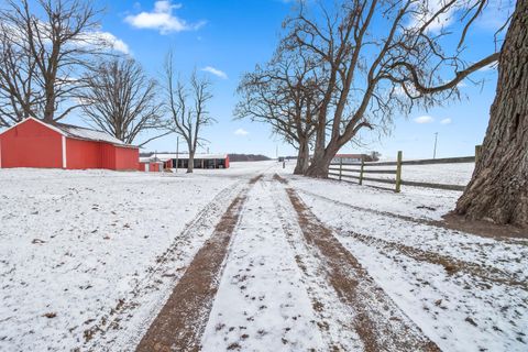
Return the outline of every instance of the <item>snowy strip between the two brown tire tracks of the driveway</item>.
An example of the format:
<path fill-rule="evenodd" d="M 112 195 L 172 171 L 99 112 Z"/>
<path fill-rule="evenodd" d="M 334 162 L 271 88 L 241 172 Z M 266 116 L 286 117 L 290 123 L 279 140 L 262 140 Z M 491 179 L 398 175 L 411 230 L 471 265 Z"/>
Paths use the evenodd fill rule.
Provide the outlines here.
<path fill-rule="evenodd" d="M 321 348 L 311 302 L 268 185 L 258 183 L 232 243 L 202 351 L 308 351 Z"/>

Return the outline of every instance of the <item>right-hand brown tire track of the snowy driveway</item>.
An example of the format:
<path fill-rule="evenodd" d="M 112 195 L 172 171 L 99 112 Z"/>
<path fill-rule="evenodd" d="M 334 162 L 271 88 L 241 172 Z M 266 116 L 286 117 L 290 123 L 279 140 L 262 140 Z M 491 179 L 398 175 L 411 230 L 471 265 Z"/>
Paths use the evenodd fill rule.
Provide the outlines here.
<path fill-rule="evenodd" d="M 278 176 L 277 176 L 278 177 Z M 354 328 L 365 351 L 440 351 L 396 307 L 358 260 L 306 207 L 295 190 L 287 188 L 307 243 L 320 253 L 329 283 L 341 300 L 355 312 Z"/>

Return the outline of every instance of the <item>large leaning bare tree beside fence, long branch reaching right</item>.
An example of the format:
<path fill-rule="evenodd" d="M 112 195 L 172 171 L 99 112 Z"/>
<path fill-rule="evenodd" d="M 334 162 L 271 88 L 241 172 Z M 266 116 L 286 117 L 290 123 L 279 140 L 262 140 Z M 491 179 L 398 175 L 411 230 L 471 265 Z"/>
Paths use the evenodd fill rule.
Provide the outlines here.
<path fill-rule="evenodd" d="M 327 77 L 308 176 L 327 177 L 336 153 L 361 130 L 386 125 L 395 110 L 440 105 L 457 96 L 458 82 L 497 59 L 492 53 L 466 63 L 462 44 L 448 55 L 439 43 L 449 32 L 430 30 L 454 8 L 472 22 L 479 11 L 473 2 L 442 0 L 431 10 L 421 0 L 352 0 L 332 10 L 321 8 L 319 16 L 301 6 L 286 21 L 289 45 L 317 55 Z M 460 43 L 464 37 L 465 31 Z M 457 73 L 448 82 L 446 67 Z"/>

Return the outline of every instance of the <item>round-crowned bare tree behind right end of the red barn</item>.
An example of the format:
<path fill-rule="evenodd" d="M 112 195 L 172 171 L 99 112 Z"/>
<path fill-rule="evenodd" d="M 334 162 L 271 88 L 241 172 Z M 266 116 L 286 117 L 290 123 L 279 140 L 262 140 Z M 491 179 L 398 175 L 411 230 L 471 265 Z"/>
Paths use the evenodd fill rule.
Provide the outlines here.
<path fill-rule="evenodd" d="M 163 130 L 156 81 L 134 59 L 102 63 L 85 81 L 79 95 L 82 112 L 102 131 L 132 144 L 142 132 Z M 168 133 L 157 133 L 141 145 Z"/>

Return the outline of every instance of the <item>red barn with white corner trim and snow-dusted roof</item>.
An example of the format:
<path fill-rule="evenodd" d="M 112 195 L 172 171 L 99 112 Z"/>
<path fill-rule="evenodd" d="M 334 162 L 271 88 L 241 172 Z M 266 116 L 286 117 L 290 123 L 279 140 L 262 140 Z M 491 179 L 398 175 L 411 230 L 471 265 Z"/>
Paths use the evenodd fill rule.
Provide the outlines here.
<path fill-rule="evenodd" d="M 0 134 L 0 168 L 138 169 L 140 150 L 100 131 L 29 118 Z"/>

